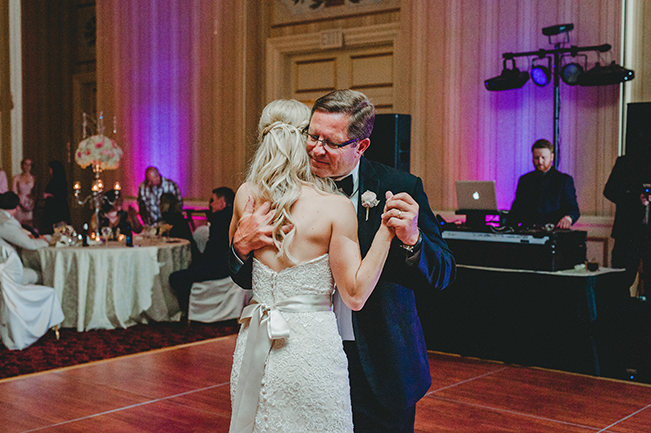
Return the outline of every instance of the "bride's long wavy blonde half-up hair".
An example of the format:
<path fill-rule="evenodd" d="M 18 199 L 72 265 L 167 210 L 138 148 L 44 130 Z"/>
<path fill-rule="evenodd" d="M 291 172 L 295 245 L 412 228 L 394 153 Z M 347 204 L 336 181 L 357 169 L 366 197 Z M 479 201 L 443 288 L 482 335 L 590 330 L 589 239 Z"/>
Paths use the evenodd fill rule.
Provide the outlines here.
<path fill-rule="evenodd" d="M 310 158 L 302 134 L 309 119 L 310 110 L 301 102 L 280 99 L 269 103 L 260 116 L 258 149 L 246 178 L 257 205 L 270 202 L 276 210 L 271 225 L 278 257 L 287 257 L 294 263 L 296 260 L 289 254 L 289 246 L 296 235 L 291 208 L 301 188 L 308 185 L 325 193 L 336 192 L 331 179 L 322 179 L 310 171 Z M 287 224 L 293 227 L 284 233 L 282 227 Z"/>

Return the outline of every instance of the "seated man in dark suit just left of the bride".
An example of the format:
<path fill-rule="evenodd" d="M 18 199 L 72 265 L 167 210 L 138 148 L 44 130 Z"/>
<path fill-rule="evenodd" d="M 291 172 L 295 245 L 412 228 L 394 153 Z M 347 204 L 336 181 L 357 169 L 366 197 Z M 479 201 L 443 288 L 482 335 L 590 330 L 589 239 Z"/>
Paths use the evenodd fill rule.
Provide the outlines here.
<path fill-rule="evenodd" d="M 176 291 L 182 318 L 187 320 L 192 284 L 200 281 L 219 280 L 229 276 L 228 229 L 233 217 L 235 193 L 227 187 L 216 188 L 210 199 L 210 236 L 201 262 L 189 269 L 170 275 L 170 285 Z"/>

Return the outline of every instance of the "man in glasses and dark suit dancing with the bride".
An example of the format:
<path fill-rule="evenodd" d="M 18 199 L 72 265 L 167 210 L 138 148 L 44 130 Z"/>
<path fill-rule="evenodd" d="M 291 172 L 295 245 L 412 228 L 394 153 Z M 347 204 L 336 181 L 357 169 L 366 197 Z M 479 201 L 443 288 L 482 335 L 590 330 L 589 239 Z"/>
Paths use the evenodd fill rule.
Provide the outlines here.
<path fill-rule="evenodd" d="M 312 172 L 348 184 L 341 188 L 357 209 L 362 256 L 381 224 L 385 200 L 397 217 L 391 218 L 396 238 L 365 306 L 351 311 L 335 294 L 334 307 L 348 356 L 355 431 L 411 432 L 416 402 L 431 384 L 414 292 L 445 288 L 456 267 L 421 179 L 363 158 L 374 119 L 365 95 L 336 90 L 314 103 L 304 133 Z M 395 195 L 385 198 L 388 191 Z M 251 251 L 272 244 L 268 207 L 251 207 L 231 248 L 231 274 L 244 288 L 251 287 Z"/>

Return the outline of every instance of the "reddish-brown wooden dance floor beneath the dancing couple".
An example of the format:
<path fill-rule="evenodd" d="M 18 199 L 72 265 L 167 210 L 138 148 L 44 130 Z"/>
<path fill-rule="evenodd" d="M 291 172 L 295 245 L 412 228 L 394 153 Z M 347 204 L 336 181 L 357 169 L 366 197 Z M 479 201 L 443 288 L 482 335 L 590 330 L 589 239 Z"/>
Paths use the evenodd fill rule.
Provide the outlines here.
<path fill-rule="evenodd" d="M 0 381 L 9 432 L 227 432 L 235 337 Z M 418 432 L 649 432 L 651 387 L 430 353 Z"/>

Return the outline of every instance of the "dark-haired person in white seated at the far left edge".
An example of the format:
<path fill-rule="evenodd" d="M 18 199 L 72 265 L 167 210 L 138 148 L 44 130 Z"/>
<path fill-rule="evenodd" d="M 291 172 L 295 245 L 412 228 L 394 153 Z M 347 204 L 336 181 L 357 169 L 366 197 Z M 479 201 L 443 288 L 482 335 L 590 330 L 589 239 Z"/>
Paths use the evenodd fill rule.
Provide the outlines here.
<path fill-rule="evenodd" d="M 20 199 L 12 191 L 0 195 L 0 239 L 13 247 L 27 248 L 28 250 L 47 247 L 48 242 L 44 238 L 35 239 L 14 218 L 19 203 Z M 34 284 L 38 280 L 39 275 L 34 269 L 23 269 L 23 281 L 21 284 Z"/>

